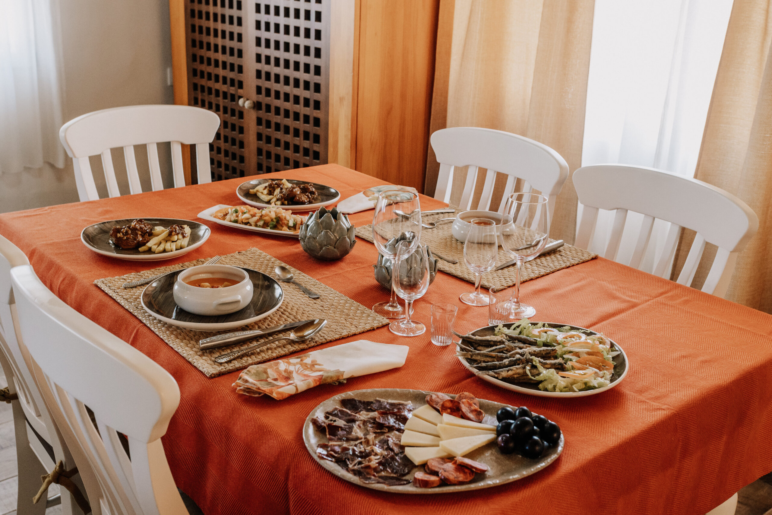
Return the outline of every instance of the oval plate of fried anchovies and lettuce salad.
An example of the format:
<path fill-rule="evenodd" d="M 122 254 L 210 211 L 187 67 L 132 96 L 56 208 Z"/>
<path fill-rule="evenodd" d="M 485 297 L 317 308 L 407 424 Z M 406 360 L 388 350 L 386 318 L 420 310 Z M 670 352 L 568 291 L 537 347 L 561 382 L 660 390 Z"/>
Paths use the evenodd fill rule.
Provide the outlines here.
<path fill-rule="evenodd" d="M 476 376 L 507 390 L 540 397 L 584 397 L 625 378 L 625 351 L 594 330 L 523 319 L 482 327 L 456 344 L 459 361 Z"/>

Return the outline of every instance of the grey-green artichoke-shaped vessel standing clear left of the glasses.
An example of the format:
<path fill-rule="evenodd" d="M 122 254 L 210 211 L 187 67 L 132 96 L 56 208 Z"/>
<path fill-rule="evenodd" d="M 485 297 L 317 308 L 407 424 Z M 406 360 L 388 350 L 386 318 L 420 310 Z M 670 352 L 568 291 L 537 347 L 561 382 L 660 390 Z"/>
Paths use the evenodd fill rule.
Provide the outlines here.
<path fill-rule="evenodd" d="M 300 226 L 300 246 L 317 259 L 340 259 L 354 248 L 354 243 L 354 225 L 337 208 L 319 208 Z"/>

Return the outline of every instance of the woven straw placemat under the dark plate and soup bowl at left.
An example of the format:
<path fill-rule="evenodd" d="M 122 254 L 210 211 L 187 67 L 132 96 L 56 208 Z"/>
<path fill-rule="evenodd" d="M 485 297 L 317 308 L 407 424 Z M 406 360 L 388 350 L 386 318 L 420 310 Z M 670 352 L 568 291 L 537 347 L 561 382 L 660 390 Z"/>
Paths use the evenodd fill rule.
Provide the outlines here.
<path fill-rule="evenodd" d="M 279 283 L 282 286 L 282 290 L 284 290 L 284 301 L 278 310 L 271 313 L 268 317 L 258 320 L 254 324 L 249 324 L 249 326 L 222 331 L 220 333 L 210 333 L 183 329 L 158 320 L 142 308 L 140 297 L 145 286 L 137 286 L 136 288 L 130 289 L 121 287 L 121 285 L 127 281 L 145 279 L 159 273 L 202 265 L 206 261 L 207 259 L 198 259 L 197 261 L 183 263 L 182 265 L 162 266 L 161 268 L 145 270 L 144 272 L 129 273 L 125 276 L 108 277 L 107 279 L 96 280 L 94 281 L 94 284 L 107 292 L 113 299 L 117 300 L 121 306 L 129 310 L 135 317 L 142 320 L 147 327 L 150 327 L 155 334 L 160 336 L 163 341 L 168 343 L 175 351 L 178 351 L 182 357 L 185 357 L 186 360 L 190 361 L 195 368 L 202 371 L 208 378 L 214 378 L 221 374 L 227 374 L 228 372 L 248 367 L 251 364 L 273 360 L 277 357 L 285 356 L 286 354 L 302 351 L 303 349 L 314 347 L 328 341 L 338 340 L 339 338 L 351 336 L 352 334 L 364 333 L 366 330 L 375 329 L 376 327 L 388 324 L 387 319 L 374 313 L 373 310 L 367 309 L 367 307 L 351 300 L 343 293 L 339 293 L 330 288 L 330 286 L 320 283 L 310 276 L 306 276 L 306 274 L 293 269 L 291 266 L 287 266 L 286 263 L 282 263 L 279 259 L 269 256 L 259 249 L 249 249 L 244 252 L 235 252 L 235 254 L 222 256 L 222 259 L 220 259 L 218 264 L 244 266 L 245 268 L 257 270 L 258 272 L 265 273 L 269 276 L 273 276 L 273 269 L 276 265 L 283 265 L 292 270 L 298 282 L 308 289 L 319 293 L 321 297 L 317 300 L 312 300 L 309 299 L 305 293 L 300 291 L 300 288 L 297 286 Z M 294 322 L 296 320 L 310 320 L 313 318 L 326 318 L 327 325 L 319 334 L 317 334 L 317 336 L 310 340 L 300 342 L 292 342 L 289 340 L 276 341 L 273 344 L 269 344 L 267 347 L 246 354 L 244 357 L 239 357 L 229 363 L 218 364 L 212 357 L 225 354 L 225 352 L 249 347 L 259 341 L 266 341 L 277 335 L 272 334 L 260 339 L 244 341 L 239 344 L 210 349 L 208 351 L 201 351 L 198 349 L 199 340 L 215 336 L 215 334 L 228 333 L 235 330 L 272 327 L 280 324 L 288 324 L 289 322 Z"/>

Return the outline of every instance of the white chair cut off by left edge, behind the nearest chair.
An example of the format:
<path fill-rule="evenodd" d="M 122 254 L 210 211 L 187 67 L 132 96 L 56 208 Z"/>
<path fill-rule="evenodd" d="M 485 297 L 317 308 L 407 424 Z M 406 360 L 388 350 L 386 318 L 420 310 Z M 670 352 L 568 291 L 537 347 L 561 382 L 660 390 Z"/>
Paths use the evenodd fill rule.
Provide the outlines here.
<path fill-rule="evenodd" d="M 25 265 L 29 266 L 29 261 L 24 252 L 0 235 L 0 363 L 8 381 L 8 391 L 18 396 L 18 399 L 12 401 L 19 471 L 16 501 L 18 515 L 45 513 L 46 498 L 33 504 L 32 496 L 40 488 L 40 476 L 51 472 L 56 462 L 62 460 L 66 470 L 76 466 L 63 435 L 46 408 L 41 389 L 30 368 L 29 351 L 19 333 L 11 269 Z M 45 389 L 46 385 L 42 388 Z M 97 486 L 89 469 L 79 471 L 80 478 L 76 476 L 73 480 L 82 492 L 83 483 Z M 60 495 L 63 513 L 82 513 L 67 490 L 62 488 Z M 99 515 L 100 512 L 97 510 L 94 513 Z"/>

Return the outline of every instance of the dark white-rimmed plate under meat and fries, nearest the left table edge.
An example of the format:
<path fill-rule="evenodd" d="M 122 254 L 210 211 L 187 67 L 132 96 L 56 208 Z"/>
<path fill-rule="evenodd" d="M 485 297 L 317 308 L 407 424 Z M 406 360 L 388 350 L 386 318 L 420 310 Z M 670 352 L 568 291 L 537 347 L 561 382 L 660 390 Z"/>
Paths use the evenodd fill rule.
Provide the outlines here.
<path fill-rule="evenodd" d="M 188 225 L 188 227 L 191 228 L 191 239 L 188 242 L 188 246 L 185 247 L 185 249 L 174 250 L 172 252 L 159 252 L 157 254 L 151 250 L 140 252 L 137 249 L 120 249 L 113 246 L 113 244 L 110 243 L 110 230 L 116 226 L 128 225 L 137 219 L 143 219 L 153 226 L 161 225 L 163 227 L 168 227 L 169 225 L 174 224 Z M 183 256 L 188 252 L 191 252 L 191 250 L 198 249 L 198 247 L 204 245 L 204 242 L 209 238 L 211 233 L 212 231 L 209 230 L 206 225 L 193 222 L 192 220 L 137 217 L 134 219 L 108 220 L 107 222 L 89 225 L 80 232 L 80 241 L 83 242 L 83 245 L 88 249 L 97 252 L 97 254 L 101 254 L 102 256 L 126 259 L 128 261 L 164 261 L 164 259 L 174 259 L 175 257 Z"/>

